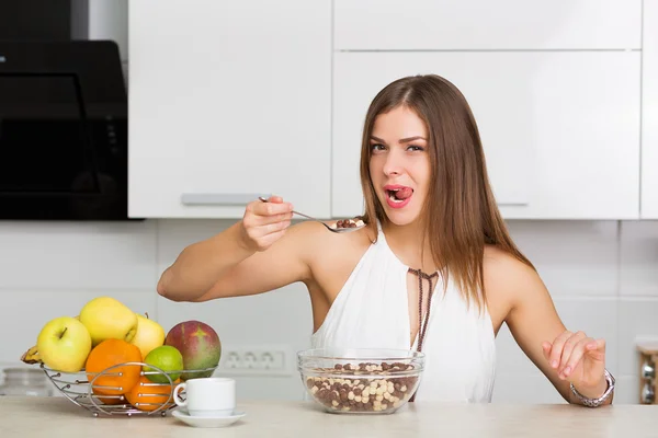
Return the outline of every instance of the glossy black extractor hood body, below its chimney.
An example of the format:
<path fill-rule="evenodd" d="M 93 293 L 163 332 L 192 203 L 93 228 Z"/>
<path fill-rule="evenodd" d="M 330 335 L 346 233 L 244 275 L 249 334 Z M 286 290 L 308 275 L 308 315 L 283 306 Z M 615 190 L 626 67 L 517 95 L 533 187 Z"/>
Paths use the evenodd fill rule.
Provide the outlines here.
<path fill-rule="evenodd" d="M 126 94 L 114 42 L 0 39 L 0 220 L 128 220 Z"/>

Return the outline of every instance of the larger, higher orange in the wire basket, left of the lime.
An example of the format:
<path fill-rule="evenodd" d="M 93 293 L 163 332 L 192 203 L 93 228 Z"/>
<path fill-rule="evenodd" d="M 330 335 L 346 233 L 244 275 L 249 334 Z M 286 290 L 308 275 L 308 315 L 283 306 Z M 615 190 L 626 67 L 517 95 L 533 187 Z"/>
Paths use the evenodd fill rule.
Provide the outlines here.
<path fill-rule="evenodd" d="M 109 369 L 116 365 L 137 362 L 136 365 L 123 365 Z M 141 373 L 141 351 L 136 345 L 123 339 L 105 339 L 93 347 L 87 357 L 87 378 L 89 383 L 93 381 L 93 393 L 103 395 L 121 395 L 131 391 L 139 381 Z M 99 374 L 100 373 L 100 374 Z M 120 399 L 106 399 L 109 404 L 121 403 Z"/>

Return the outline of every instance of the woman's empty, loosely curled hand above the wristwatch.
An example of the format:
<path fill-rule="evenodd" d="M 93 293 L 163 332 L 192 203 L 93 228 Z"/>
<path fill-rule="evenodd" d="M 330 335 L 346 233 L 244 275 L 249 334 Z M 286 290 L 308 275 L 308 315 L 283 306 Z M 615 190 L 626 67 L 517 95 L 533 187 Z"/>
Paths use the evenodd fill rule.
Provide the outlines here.
<path fill-rule="evenodd" d="M 598 397 L 605 391 L 605 341 L 583 332 L 565 331 L 553 343 L 542 343 L 544 357 L 561 380 L 586 396 Z"/>

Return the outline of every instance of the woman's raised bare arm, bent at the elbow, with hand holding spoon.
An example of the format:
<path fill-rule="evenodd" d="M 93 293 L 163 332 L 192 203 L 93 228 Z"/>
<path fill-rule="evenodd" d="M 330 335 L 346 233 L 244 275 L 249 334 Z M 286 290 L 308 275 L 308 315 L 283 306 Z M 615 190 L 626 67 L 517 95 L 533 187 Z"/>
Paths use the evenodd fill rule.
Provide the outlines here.
<path fill-rule="evenodd" d="M 288 227 L 290 210 L 281 198 L 250 204 L 240 222 L 185 247 L 162 273 L 158 293 L 172 301 L 206 301 L 307 279 L 309 235 L 317 228 Z"/>

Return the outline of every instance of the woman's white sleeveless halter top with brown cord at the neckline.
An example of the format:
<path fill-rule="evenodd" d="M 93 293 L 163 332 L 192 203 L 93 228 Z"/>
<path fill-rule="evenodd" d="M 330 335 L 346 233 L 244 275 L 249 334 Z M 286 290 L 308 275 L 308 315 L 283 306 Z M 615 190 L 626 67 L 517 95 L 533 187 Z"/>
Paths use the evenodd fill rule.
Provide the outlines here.
<path fill-rule="evenodd" d="M 379 228 L 377 242 L 367 249 L 313 334 L 311 347 L 409 349 L 408 268 Z M 426 291 L 428 281 L 423 281 Z M 496 374 L 489 313 L 480 313 L 475 303 L 467 308 L 450 279 L 445 295 L 441 276 L 432 280 L 432 287 L 422 345 L 426 369 L 416 401 L 488 403 Z M 413 350 L 417 344 L 418 335 Z"/>

